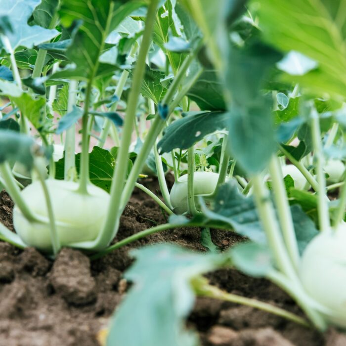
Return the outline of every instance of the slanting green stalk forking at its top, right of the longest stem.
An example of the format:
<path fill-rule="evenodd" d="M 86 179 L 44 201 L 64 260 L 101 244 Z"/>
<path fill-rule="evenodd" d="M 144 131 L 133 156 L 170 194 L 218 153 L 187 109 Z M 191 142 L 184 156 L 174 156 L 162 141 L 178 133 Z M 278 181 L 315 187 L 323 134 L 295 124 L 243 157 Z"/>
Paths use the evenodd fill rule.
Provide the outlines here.
<path fill-rule="evenodd" d="M 181 64 L 179 71 L 174 77 L 174 80 L 164 97 L 163 103 L 170 104 L 169 115 L 174 111 L 175 107 L 179 104 L 182 97 L 185 96 L 186 92 L 196 82 L 196 80 L 198 79 L 198 77 L 203 71 L 203 69 L 200 68 L 199 73 L 197 73 L 194 78 L 191 78 L 189 82 L 184 87 L 181 88 L 181 90 L 178 92 L 178 94 L 176 95 L 175 99 L 172 102 L 172 98 L 177 88 L 179 87 L 181 80 L 185 77 L 186 71 L 189 68 L 190 64 L 193 62 L 196 56 L 196 53 L 197 52 L 194 51 L 193 53 L 191 53 L 191 55 L 185 58 L 184 62 Z M 137 180 L 137 177 L 145 164 L 145 160 L 147 159 L 151 148 L 155 144 L 155 140 L 157 136 L 163 130 L 164 126 L 165 126 L 165 121 L 162 120 L 159 115 L 156 115 L 154 121 L 152 122 L 150 126 L 149 132 L 144 140 L 140 153 L 137 156 L 136 160 L 134 161 L 130 175 L 128 176 L 128 180 L 125 184 L 125 188 L 122 194 L 122 204 L 121 204 L 122 210 L 124 210 L 126 204 L 128 203 L 128 200 L 133 190 L 134 183 Z"/>

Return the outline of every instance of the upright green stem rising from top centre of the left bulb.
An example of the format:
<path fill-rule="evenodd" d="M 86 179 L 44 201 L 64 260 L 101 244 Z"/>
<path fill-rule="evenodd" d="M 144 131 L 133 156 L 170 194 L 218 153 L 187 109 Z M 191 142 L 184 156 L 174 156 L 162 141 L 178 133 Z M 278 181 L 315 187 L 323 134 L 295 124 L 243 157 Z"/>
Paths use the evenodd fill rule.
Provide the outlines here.
<path fill-rule="evenodd" d="M 89 183 L 89 131 L 88 131 L 88 115 L 90 95 L 92 90 L 92 79 L 89 80 L 86 91 L 86 99 L 84 104 L 84 113 L 82 117 L 82 154 L 80 167 L 80 182 L 78 191 L 87 194 L 87 185 Z"/>

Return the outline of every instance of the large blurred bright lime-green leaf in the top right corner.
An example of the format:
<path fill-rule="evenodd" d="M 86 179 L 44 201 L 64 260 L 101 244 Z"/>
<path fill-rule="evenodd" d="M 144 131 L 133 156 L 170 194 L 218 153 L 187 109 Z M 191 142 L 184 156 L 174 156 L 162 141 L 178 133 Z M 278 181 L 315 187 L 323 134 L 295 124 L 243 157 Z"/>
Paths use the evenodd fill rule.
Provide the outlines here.
<path fill-rule="evenodd" d="M 259 25 L 267 42 L 284 51 L 299 51 L 318 63 L 317 71 L 297 76 L 296 81 L 309 89 L 344 96 L 344 0 L 260 0 L 258 4 Z"/>

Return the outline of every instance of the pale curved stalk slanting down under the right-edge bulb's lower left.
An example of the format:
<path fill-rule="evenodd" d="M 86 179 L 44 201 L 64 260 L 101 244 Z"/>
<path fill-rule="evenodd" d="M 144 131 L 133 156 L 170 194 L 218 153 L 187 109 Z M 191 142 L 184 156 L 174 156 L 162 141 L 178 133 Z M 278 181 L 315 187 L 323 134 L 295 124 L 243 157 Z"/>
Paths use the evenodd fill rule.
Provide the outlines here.
<path fill-rule="evenodd" d="M 322 305 L 313 301 L 303 290 L 301 285 L 294 285 L 287 277 L 277 271 L 271 271 L 266 275 L 267 279 L 286 291 L 301 306 L 306 316 L 320 331 L 325 331 L 327 324 L 322 314 L 317 309 L 323 309 Z"/>

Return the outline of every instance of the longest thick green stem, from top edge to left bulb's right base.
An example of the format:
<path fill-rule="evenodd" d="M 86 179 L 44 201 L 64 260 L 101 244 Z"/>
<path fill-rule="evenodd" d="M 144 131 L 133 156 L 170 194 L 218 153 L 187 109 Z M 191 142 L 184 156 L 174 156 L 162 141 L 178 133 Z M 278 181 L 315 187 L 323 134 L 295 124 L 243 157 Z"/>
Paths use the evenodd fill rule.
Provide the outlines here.
<path fill-rule="evenodd" d="M 130 88 L 128 106 L 124 120 L 123 135 L 112 179 L 112 186 L 110 192 L 111 198 L 108 208 L 108 215 L 103 230 L 101 231 L 100 236 L 97 239 L 97 243 L 101 248 L 107 246 L 110 240 L 115 237 L 118 231 L 119 217 L 122 213 L 120 196 L 122 196 L 126 173 L 128 169 L 127 162 L 129 158 L 129 147 L 133 130 L 133 122 L 136 117 L 140 88 L 142 85 L 142 80 L 145 72 L 145 59 L 151 44 L 151 35 L 153 32 L 153 26 L 155 22 L 157 4 L 158 0 L 151 0 L 149 4 L 145 20 L 145 28 L 142 37 L 142 42 L 140 44 L 137 62 L 133 72 L 133 79 Z M 133 185 L 134 182 L 132 183 Z"/>

